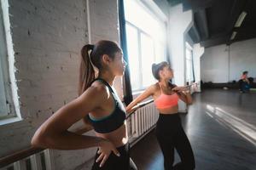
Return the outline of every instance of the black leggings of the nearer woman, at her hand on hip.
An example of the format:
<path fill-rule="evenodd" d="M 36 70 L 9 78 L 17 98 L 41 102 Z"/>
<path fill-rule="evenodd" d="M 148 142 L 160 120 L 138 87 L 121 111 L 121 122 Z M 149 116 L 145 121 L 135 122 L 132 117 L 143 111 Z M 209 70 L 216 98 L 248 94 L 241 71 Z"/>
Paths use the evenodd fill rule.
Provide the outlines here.
<path fill-rule="evenodd" d="M 108 160 L 104 163 L 103 167 L 100 167 L 101 161 L 96 162 L 97 157 L 100 156 L 97 154 L 97 150 L 91 170 L 137 170 L 135 163 L 130 158 L 129 144 L 120 146 L 117 148 L 117 150 L 119 150 L 120 156 L 116 156 L 112 152 L 108 157 Z"/>

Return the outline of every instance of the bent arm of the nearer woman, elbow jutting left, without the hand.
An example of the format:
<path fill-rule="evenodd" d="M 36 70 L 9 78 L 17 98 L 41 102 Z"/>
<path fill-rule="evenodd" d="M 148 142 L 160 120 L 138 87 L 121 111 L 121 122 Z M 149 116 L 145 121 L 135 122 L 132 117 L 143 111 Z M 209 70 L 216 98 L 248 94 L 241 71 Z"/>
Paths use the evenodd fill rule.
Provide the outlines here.
<path fill-rule="evenodd" d="M 102 94 L 102 95 L 96 95 Z M 73 123 L 84 118 L 108 98 L 106 89 L 90 87 L 79 98 L 61 107 L 53 116 L 38 128 L 32 138 L 32 145 L 42 148 L 59 150 L 77 150 L 94 146 L 106 146 L 110 143 L 106 139 L 93 136 L 79 135 L 67 131 Z M 114 150 L 115 151 L 115 150 Z"/>

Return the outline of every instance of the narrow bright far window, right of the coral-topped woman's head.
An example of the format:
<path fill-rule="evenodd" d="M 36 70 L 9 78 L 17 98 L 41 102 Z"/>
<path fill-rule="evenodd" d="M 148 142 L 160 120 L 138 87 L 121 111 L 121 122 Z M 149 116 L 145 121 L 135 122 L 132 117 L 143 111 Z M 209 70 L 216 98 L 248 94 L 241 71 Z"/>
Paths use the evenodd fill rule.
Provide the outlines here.
<path fill-rule="evenodd" d="M 186 82 L 194 82 L 194 68 L 193 68 L 193 51 L 189 43 L 186 42 Z"/>

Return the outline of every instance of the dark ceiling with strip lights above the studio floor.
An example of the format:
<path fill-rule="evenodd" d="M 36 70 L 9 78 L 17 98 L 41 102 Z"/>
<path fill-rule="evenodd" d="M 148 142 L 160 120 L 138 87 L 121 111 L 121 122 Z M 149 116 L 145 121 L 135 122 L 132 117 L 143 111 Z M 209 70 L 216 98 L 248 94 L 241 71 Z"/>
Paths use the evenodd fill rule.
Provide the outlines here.
<path fill-rule="evenodd" d="M 256 0 L 168 0 L 171 6 L 183 3 L 183 10 L 192 9 L 194 26 L 188 32 L 193 42 L 208 48 L 256 37 Z M 247 15 L 235 27 L 242 12 Z M 254 11 L 254 12 L 253 12 Z M 230 37 L 236 31 L 236 37 Z"/>

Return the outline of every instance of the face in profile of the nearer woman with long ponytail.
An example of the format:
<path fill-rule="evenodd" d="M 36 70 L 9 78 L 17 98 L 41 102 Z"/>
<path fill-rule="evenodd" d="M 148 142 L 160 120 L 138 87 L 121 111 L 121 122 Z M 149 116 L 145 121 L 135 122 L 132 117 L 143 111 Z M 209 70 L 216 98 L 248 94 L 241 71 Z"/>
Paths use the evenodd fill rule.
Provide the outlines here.
<path fill-rule="evenodd" d="M 123 76 L 125 73 L 125 65 L 127 65 L 127 63 L 123 58 L 123 53 L 117 52 L 109 66 L 115 76 Z"/>

